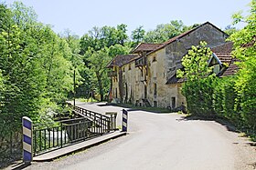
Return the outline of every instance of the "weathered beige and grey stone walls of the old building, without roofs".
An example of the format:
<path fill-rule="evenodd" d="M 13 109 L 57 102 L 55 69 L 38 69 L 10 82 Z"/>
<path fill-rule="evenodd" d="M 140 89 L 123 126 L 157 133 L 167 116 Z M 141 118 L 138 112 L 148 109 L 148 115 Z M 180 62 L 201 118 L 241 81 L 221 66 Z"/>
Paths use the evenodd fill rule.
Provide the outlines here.
<path fill-rule="evenodd" d="M 146 67 L 135 67 L 134 61 L 123 65 L 118 72 L 119 83 L 114 82 L 113 88 L 119 89 L 118 97 L 124 103 L 135 105 L 146 98 L 150 105 L 158 107 L 186 105 L 186 98 L 181 94 L 181 84 L 167 85 L 166 82 L 182 67 L 181 59 L 192 45 L 198 45 L 200 41 L 206 41 L 209 47 L 222 45 L 227 36 L 214 25 L 201 25 L 164 48 L 147 55 Z"/>

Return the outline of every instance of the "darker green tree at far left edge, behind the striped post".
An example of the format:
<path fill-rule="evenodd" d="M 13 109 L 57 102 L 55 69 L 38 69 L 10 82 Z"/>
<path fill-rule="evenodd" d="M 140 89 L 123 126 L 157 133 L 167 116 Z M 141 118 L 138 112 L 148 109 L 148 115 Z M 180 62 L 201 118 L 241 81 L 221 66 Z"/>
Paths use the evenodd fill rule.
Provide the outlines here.
<path fill-rule="evenodd" d="M 5 90 L 1 94 L 1 125 L 5 125 L 5 131 L 1 131 L 5 133 L 3 136 L 16 131 L 21 116 L 37 116 L 43 91 L 39 83 L 43 75 L 37 68 L 37 57 L 34 55 L 35 39 L 28 36 L 33 31 L 25 22 L 29 20 L 32 25 L 34 19 L 25 17 L 22 12 L 17 13 L 18 9 L 25 7 L 16 3 L 12 10 L 5 10 L 0 32 L 0 70 L 5 79 Z"/>

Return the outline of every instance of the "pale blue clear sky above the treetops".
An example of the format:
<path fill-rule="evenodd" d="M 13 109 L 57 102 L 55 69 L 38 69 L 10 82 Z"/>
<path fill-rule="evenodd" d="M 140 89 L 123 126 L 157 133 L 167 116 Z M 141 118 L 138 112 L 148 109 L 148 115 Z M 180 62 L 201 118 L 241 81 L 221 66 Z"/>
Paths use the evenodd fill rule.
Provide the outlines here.
<path fill-rule="evenodd" d="M 14 0 L 0 0 L 10 5 Z M 32 6 L 38 21 L 52 25 L 56 33 L 65 29 L 75 35 L 88 33 L 93 26 L 127 25 L 128 34 L 139 25 L 145 31 L 171 20 L 185 25 L 210 22 L 224 29 L 231 15 L 242 10 L 248 15 L 251 0 L 21 0 Z M 242 28 L 244 25 L 236 25 Z"/>

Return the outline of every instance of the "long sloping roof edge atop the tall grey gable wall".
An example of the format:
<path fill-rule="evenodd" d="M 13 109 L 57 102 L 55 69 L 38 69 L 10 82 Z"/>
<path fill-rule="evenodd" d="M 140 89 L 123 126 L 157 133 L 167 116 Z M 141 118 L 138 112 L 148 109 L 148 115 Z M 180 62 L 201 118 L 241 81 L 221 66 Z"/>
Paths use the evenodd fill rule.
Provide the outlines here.
<path fill-rule="evenodd" d="M 176 40 L 178 40 L 179 38 L 182 38 L 183 36 L 189 35 L 190 33 L 196 31 L 199 27 L 201 27 L 201 26 L 203 26 L 203 25 L 212 25 L 212 24 L 209 23 L 209 22 L 206 22 L 206 23 L 204 23 L 204 24 L 202 24 L 202 25 L 198 25 L 197 27 L 195 27 L 195 28 L 193 28 L 193 29 L 191 29 L 191 30 L 189 30 L 189 31 L 187 31 L 187 32 L 185 32 L 185 33 L 183 33 L 183 34 L 181 34 L 181 35 L 177 35 L 177 36 L 175 36 L 175 37 L 169 39 L 169 40 L 166 41 L 163 45 L 158 46 L 157 48 L 155 48 L 155 50 L 153 50 L 153 51 L 150 52 L 149 54 L 154 53 L 155 51 L 164 48 L 166 45 L 169 45 L 169 44 L 175 42 Z M 219 31 L 221 31 L 217 26 L 215 26 L 215 25 L 212 25 L 212 26 L 215 27 L 216 29 L 218 29 Z M 223 32 L 223 31 L 221 31 L 221 32 Z M 223 33 L 224 33 L 224 32 L 223 32 Z"/>

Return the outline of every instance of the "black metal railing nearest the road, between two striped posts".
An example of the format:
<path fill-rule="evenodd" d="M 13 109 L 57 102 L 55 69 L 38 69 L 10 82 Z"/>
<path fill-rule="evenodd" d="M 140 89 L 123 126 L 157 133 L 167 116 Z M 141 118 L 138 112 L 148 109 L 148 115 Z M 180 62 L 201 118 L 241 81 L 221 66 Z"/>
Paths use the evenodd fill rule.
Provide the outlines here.
<path fill-rule="evenodd" d="M 110 132 L 110 118 L 103 117 L 93 121 L 82 117 L 50 125 L 33 125 L 34 155 Z"/>

